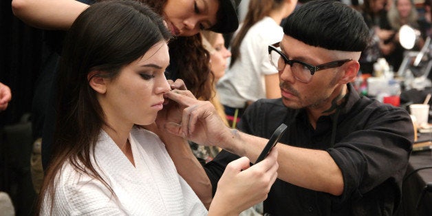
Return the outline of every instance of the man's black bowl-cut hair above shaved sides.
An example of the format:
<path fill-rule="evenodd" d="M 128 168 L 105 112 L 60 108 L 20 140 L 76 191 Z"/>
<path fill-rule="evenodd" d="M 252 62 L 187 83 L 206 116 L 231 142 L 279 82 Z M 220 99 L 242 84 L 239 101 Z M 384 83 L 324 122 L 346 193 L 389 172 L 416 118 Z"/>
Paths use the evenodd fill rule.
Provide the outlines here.
<path fill-rule="evenodd" d="M 305 3 L 286 19 L 283 32 L 327 50 L 361 52 L 369 42 L 369 28 L 360 12 L 339 1 Z"/>

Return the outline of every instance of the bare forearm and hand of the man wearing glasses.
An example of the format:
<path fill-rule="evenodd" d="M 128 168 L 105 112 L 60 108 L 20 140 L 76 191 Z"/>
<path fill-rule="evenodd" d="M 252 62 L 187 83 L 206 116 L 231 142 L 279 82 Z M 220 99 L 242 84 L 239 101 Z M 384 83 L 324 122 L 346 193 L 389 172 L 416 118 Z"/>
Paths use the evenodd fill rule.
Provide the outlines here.
<path fill-rule="evenodd" d="M 251 136 L 226 127 L 215 113 L 210 102 L 195 100 L 183 95 L 182 91 L 166 94 L 172 100 L 186 106 L 182 125 L 166 124 L 166 129 L 177 136 L 194 142 L 218 146 L 239 156 L 246 156 L 251 162 L 268 142 L 267 139 Z M 302 149 L 278 144 L 278 178 L 314 191 L 332 195 L 343 193 L 343 177 L 327 151 Z"/>

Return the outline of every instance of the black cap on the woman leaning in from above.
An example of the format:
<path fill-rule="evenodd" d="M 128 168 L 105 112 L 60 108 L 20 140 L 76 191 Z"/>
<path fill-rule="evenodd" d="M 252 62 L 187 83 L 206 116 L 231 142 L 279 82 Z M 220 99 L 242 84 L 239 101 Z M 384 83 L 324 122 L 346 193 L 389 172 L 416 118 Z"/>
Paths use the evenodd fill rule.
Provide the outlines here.
<path fill-rule="evenodd" d="M 237 16 L 237 6 L 241 0 L 219 0 L 219 10 L 217 10 L 217 23 L 209 30 L 218 33 L 235 32 L 239 28 L 239 17 Z"/>

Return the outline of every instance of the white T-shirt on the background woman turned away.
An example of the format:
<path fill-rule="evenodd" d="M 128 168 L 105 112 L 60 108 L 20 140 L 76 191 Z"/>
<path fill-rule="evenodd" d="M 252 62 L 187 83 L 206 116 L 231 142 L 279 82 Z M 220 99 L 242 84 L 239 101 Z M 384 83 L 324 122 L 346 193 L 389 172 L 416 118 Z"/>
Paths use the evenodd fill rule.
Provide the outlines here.
<path fill-rule="evenodd" d="M 277 74 L 268 59 L 268 45 L 281 41 L 282 37 L 283 29 L 270 17 L 252 25 L 241 41 L 240 58 L 216 85 L 223 105 L 243 108 L 249 100 L 266 98 L 264 76 Z"/>

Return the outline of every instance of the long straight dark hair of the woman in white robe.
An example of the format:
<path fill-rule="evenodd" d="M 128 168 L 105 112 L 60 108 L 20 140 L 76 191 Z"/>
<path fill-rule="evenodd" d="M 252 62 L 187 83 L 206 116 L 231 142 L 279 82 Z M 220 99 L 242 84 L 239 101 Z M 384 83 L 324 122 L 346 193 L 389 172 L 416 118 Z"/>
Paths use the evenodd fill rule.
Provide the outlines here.
<path fill-rule="evenodd" d="M 102 125 L 107 125 L 89 86 L 87 75 L 98 70 L 115 78 L 120 69 L 143 56 L 171 34 L 162 19 L 138 1 L 102 1 L 82 12 L 63 45 L 57 81 L 56 129 L 52 160 L 41 189 L 37 212 L 45 196 L 54 203 L 55 179 L 65 162 L 84 175 L 100 180 L 115 196 L 109 182 L 91 161 Z"/>

